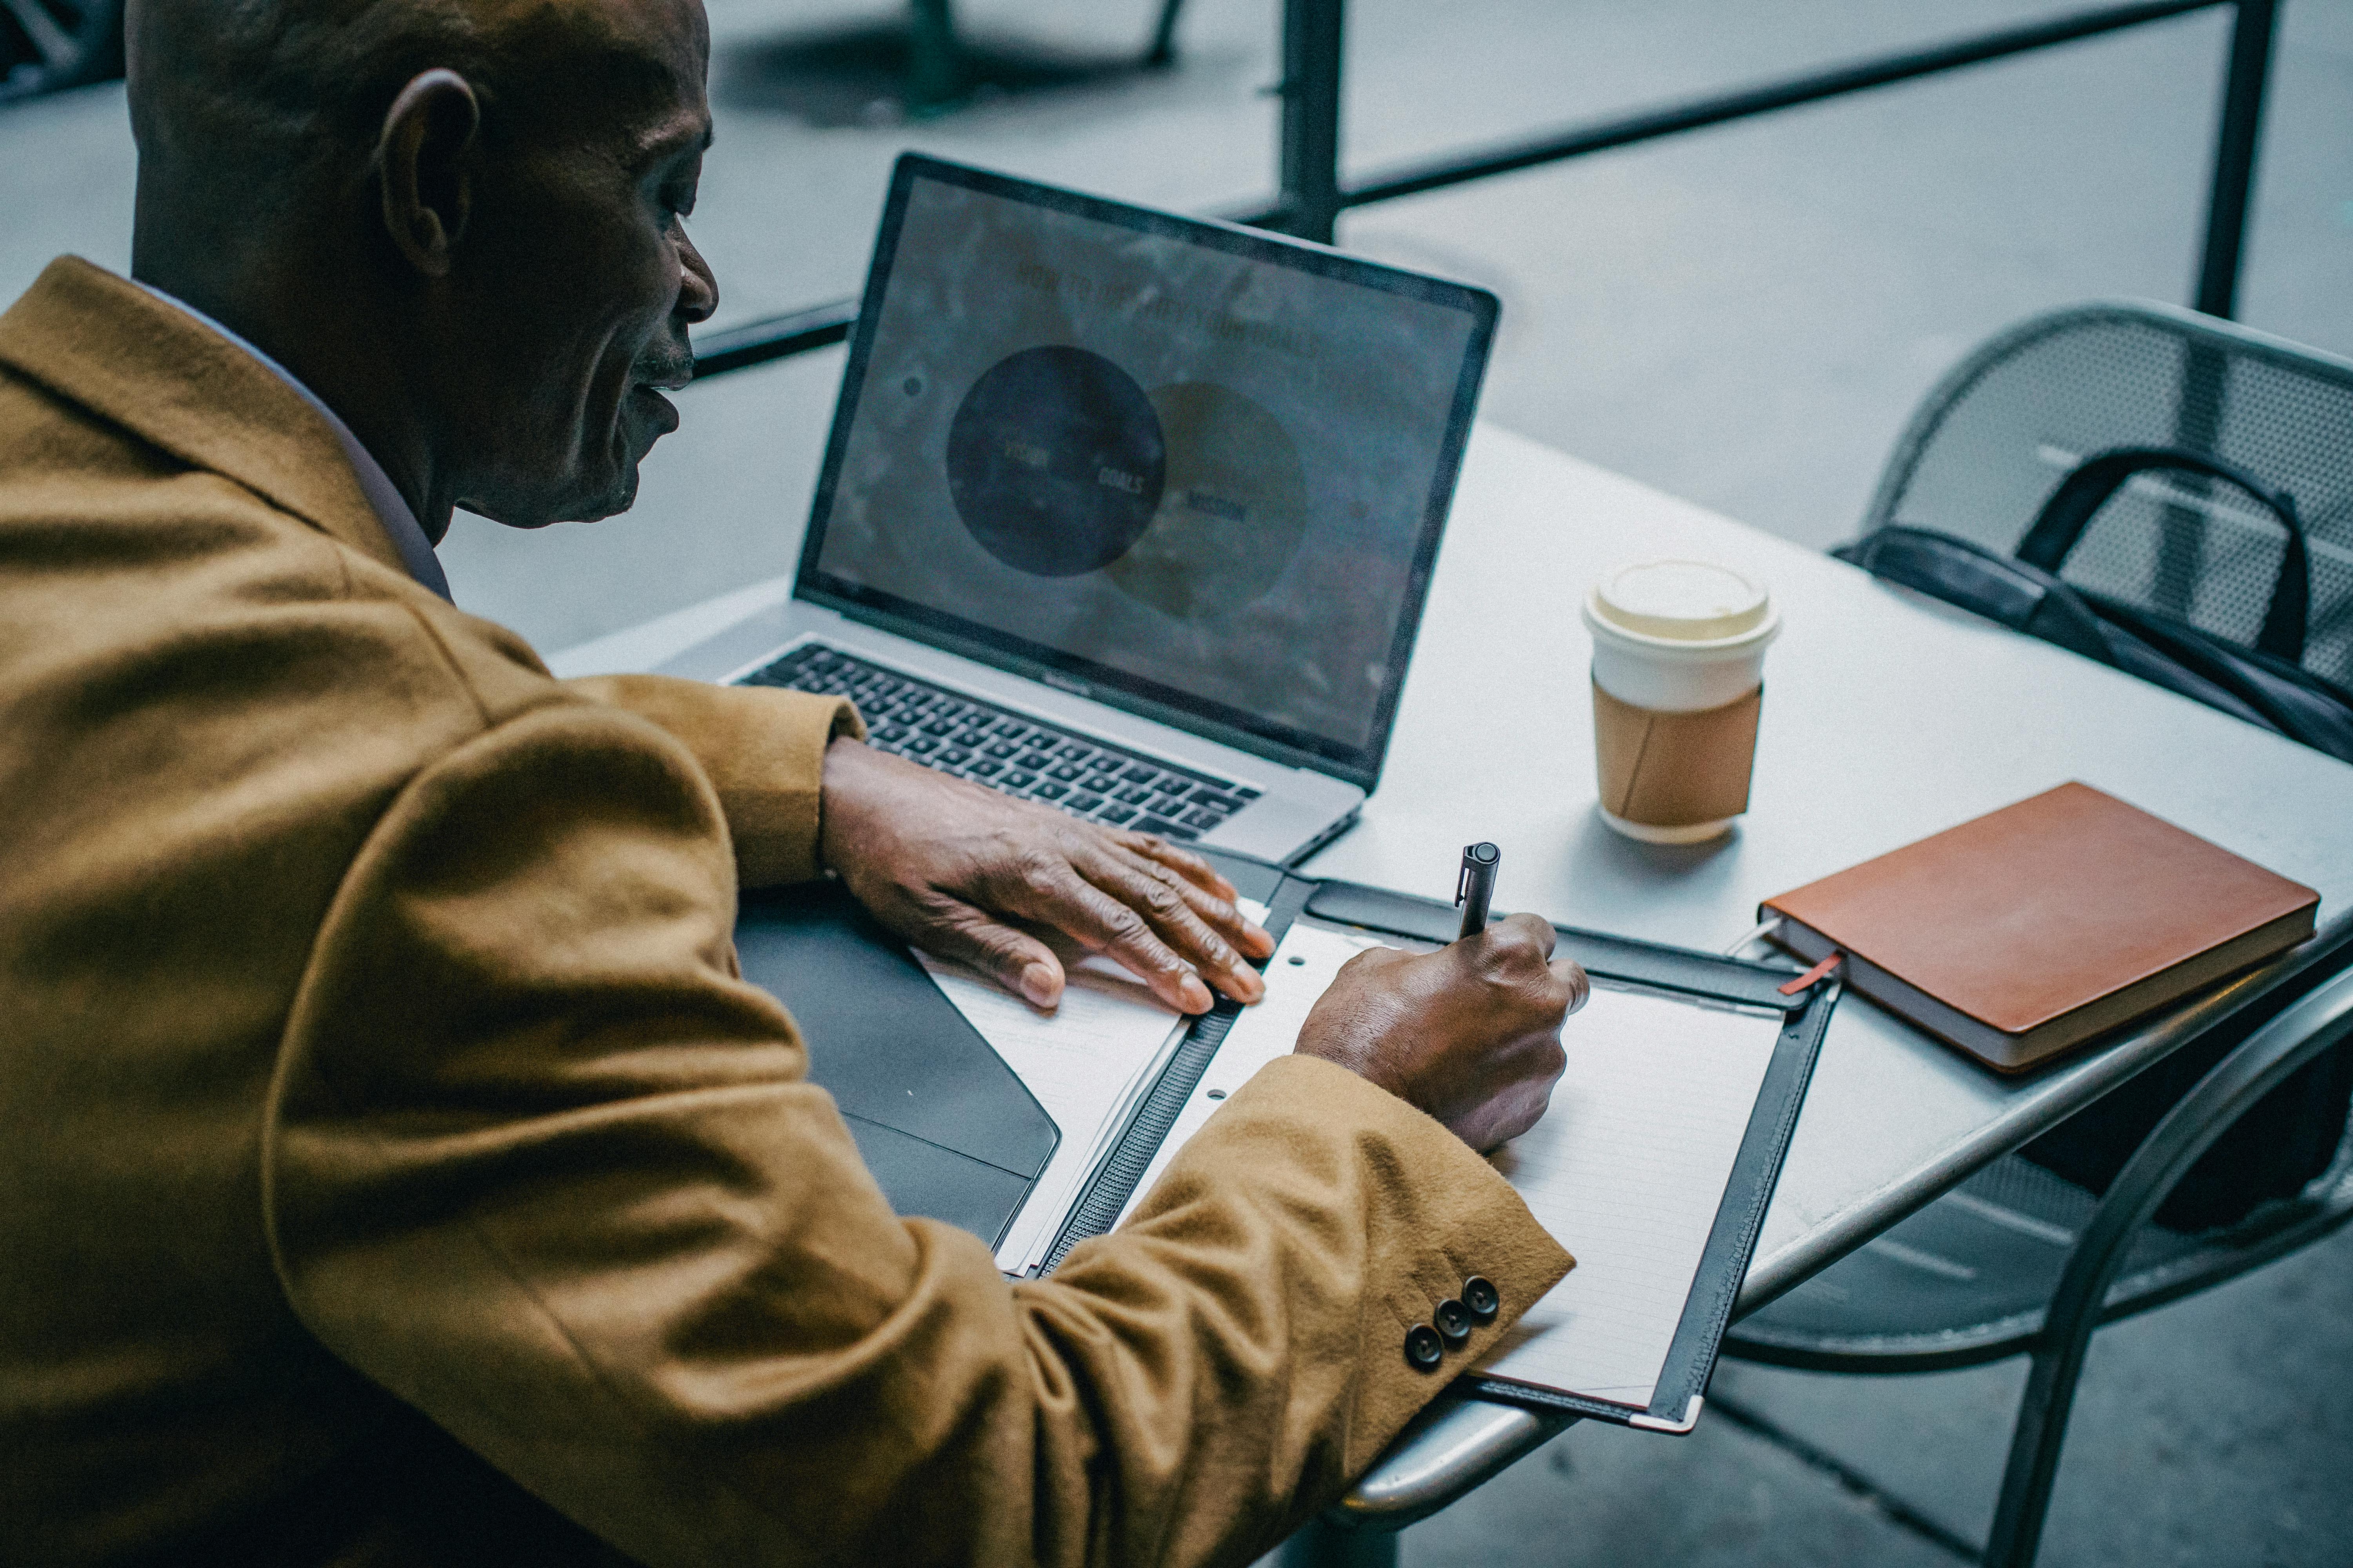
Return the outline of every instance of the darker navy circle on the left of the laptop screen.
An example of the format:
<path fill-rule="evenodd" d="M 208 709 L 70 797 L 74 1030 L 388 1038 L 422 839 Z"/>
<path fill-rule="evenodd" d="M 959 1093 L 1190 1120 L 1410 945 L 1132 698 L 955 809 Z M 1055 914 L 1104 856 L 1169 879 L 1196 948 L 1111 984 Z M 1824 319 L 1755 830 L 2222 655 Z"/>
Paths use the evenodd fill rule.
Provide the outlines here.
<path fill-rule="evenodd" d="M 948 425 L 948 496 L 972 538 L 1031 576 L 1120 559 L 1153 522 L 1167 454 L 1144 388 L 1085 348 L 991 364 Z"/>

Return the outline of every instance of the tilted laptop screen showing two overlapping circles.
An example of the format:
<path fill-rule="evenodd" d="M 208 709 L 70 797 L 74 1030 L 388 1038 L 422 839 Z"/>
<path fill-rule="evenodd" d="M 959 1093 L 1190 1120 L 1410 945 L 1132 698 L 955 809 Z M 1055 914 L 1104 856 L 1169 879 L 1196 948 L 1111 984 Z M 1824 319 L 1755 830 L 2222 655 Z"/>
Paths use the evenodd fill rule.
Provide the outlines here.
<path fill-rule="evenodd" d="M 1494 310 L 901 158 L 800 595 L 1369 788 Z"/>

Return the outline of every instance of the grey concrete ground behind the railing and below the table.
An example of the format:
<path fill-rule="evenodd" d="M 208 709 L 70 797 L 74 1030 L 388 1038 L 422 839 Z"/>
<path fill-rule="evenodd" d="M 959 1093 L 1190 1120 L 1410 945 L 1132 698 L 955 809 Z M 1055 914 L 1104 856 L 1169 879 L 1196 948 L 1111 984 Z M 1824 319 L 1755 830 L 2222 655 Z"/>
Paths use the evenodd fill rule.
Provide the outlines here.
<path fill-rule="evenodd" d="M 887 0 L 711 0 L 720 143 L 694 219 L 722 322 L 852 294 L 901 148 L 1186 209 L 1261 200 L 1275 9 L 1193 0 L 1172 73 L 1118 71 L 1151 0 L 967 0 L 1028 78 L 922 125 L 812 61 Z M 1478 0 L 1351 7 L 1355 172 L 1875 49 L 2054 0 Z M 1355 214 L 1341 242 L 1504 296 L 1485 416 L 1821 545 L 1854 531 L 1962 350 L 2087 296 L 2184 301 L 2226 24 L 2191 16 Z M 125 266 L 120 87 L 0 110 L 0 299 L 56 252 Z M 2353 0 L 2289 0 L 2242 317 L 2353 353 Z M 715 378 L 638 512 L 461 520 L 459 602 L 544 649 L 791 571 L 840 353 Z M 2042 1561 L 2353 1563 L 2353 1237 L 2106 1333 Z M 1981 1540 L 2021 1368 L 1833 1380 L 1727 1366 L 1689 1439 L 1579 1427 L 1405 1537 L 1407 1563 L 1948 1563 Z M 1854 1483 L 1861 1483 L 1857 1488 Z M 1892 1500 L 1894 1509 L 1873 1500 Z M 1927 1533 L 1897 1519 L 1913 1512 Z"/>

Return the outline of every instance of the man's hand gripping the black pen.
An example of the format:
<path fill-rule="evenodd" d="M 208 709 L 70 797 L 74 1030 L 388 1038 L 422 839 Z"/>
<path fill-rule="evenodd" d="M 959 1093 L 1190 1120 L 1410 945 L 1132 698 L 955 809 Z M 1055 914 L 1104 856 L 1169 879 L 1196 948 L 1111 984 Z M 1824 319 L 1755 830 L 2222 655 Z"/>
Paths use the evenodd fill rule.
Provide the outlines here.
<path fill-rule="evenodd" d="M 1591 985 L 1553 929 L 1513 914 L 1438 952 L 1374 947 L 1341 966 L 1299 1051 L 1438 1117 L 1473 1150 L 1537 1126 L 1567 1065 L 1560 1023 Z"/>

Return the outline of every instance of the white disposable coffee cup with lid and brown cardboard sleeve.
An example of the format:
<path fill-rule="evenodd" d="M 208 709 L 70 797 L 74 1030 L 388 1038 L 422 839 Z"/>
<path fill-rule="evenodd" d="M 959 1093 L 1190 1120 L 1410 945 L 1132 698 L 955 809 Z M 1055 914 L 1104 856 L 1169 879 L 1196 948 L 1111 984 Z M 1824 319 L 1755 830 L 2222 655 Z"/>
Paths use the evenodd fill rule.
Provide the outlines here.
<path fill-rule="evenodd" d="M 1647 844 L 1722 835 L 1748 811 L 1772 595 L 1715 562 L 1647 559 L 1602 574 L 1584 616 L 1602 820 Z"/>

